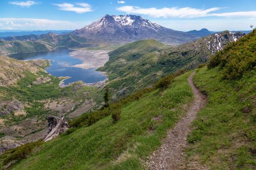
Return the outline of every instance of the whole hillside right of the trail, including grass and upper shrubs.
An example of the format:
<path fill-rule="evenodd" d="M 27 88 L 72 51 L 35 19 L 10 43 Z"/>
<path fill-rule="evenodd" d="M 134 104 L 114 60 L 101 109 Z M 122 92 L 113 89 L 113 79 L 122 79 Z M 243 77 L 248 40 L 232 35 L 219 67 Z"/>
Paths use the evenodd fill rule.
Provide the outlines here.
<path fill-rule="evenodd" d="M 255 168 L 255 33 L 227 45 L 210 69 L 197 70 L 194 82 L 208 101 L 188 137 L 187 168 Z"/>

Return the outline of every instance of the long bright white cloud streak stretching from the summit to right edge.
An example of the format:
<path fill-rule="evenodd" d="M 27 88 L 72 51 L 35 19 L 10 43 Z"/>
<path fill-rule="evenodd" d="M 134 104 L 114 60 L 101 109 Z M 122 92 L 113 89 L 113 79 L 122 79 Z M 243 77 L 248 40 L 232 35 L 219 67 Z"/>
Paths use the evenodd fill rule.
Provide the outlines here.
<path fill-rule="evenodd" d="M 212 13 L 218 11 L 221 8 L 209 8 L 209 9 L 197 9 L 197 8 L 140 8 L 135 6 L 123 6 L 117 8 L 118 11 L 148 15 L 151 17 L 163 17 L 163 18 L 197 18 L 206 16 L 222 16 L 222 17 L 255 17 L 256 11 L 245 11 L 245 12 L 227 12 L 227 13 Z"/>

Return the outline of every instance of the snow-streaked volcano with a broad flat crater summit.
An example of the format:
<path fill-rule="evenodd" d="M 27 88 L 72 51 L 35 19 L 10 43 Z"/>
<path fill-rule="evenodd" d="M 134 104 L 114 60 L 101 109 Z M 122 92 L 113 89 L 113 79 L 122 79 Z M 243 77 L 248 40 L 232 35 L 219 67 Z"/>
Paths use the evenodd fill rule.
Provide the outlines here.
<path fill-rule="evenodd" d="M 131 42 L 152 38 L 168 44 L 180 44 L 199 38 L 162 27 L 138 15 L 108 14 L 72 34 L 103 42 Z"/>

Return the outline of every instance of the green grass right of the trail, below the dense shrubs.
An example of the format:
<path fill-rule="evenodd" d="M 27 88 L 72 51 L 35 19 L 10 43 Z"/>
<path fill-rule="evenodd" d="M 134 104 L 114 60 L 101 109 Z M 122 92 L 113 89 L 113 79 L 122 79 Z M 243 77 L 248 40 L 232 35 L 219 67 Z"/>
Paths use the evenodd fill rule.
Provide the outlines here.
<path fill-rule="evenodd" d="M 255 168 L 255 69 L 222 80 L 222 69 L 197 70 L 194 82 L 208 95 L 188 136 L 187 161 L 211 169 Z M 200 166 L 199 166 L 200 167 Z"/>

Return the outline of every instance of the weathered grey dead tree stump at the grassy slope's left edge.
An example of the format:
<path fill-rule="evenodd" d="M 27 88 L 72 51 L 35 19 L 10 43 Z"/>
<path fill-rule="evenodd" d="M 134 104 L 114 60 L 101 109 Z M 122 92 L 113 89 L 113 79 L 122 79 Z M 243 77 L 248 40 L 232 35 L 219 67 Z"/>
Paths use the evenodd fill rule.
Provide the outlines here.
<path fill-rule="evenodd" d="M 64 117 L 48 116 L 46 119 L 48 120 L 49 131 L 44 141 L 51 140 L 68 129 L 68 123 L 65 122 Z"/>

